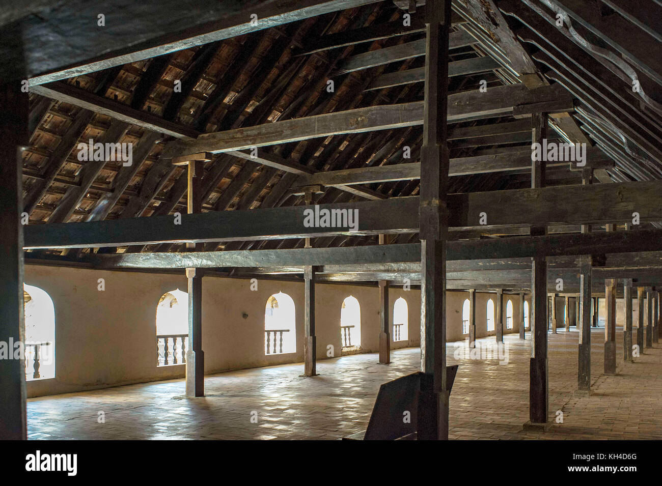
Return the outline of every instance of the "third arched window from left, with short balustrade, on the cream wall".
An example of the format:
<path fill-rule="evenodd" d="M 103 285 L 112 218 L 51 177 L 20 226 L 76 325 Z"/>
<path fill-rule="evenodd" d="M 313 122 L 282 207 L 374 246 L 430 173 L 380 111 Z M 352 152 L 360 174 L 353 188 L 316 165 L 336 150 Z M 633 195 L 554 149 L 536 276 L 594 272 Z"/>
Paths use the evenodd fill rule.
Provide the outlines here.
<path fill-rule="evenodd" d="M 297 352 L 297 316 L 294 301 L 279 292 L 264 309 L 264 354 Z"/>

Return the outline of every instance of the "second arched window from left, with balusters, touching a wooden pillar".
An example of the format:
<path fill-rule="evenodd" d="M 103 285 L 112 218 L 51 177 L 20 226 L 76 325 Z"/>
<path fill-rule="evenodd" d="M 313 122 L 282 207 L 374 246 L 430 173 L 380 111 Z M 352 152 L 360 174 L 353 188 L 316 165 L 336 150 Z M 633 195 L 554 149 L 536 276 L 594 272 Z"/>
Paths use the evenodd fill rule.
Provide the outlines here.
<path fill-rule="evenodd" d="M 189 346 L 189 294 L 163 294 L 156 305 L 156 366 L 185 364 Z"/>

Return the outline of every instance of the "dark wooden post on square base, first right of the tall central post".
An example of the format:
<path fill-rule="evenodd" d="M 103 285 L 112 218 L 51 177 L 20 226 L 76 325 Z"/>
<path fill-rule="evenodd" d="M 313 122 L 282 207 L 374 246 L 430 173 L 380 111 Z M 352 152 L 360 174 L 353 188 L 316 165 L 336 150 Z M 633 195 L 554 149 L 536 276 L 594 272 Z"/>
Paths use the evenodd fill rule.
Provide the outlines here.
<path fill-rule="evenodd" d="M 547 138 L 547 113 L 532 116 L 532 142 L 541 143 Z M 545 185 L 545 163 L 532 160 L 531 186 Z M 531 228 L 532 236 L 544 235 L 545 227 Z M 547 380 L 547 260 L 532 257 L 531 264 L 531 360 L 529 366 L 529 422 L 536 428 L 547 425 L 549 384 Z M 527 426 L 525 425 L 525 427 Z"/>

